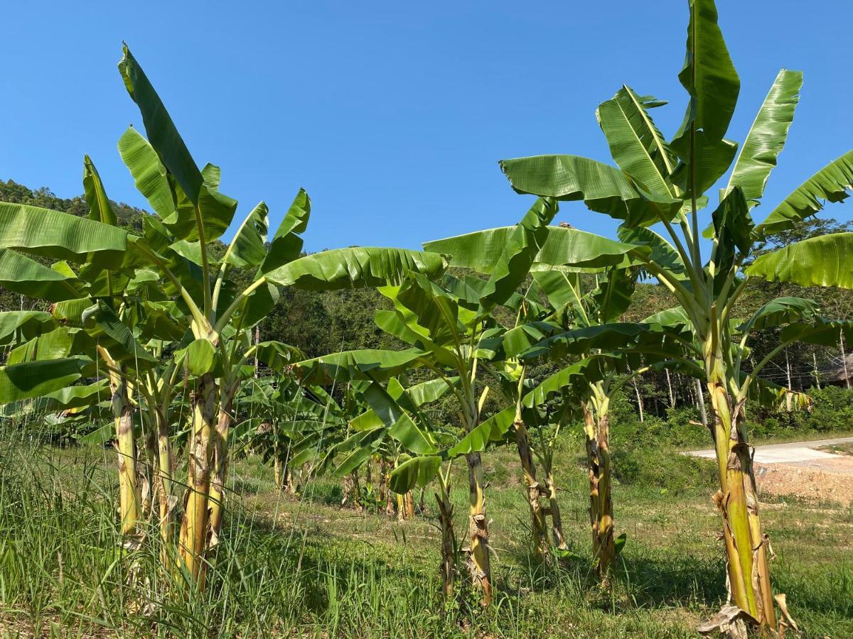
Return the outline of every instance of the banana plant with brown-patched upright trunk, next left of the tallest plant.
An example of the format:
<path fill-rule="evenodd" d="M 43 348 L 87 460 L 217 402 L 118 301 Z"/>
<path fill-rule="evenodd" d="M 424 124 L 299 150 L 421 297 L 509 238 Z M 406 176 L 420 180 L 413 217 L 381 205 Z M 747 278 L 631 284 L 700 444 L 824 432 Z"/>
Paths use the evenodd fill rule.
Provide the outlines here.
<path fill-rule="evenodd" d="M 574 233 L 577 232 L 570 230 L 563 232 L 563 235 L 569 239 Z M 672 361 L 664 358 L 682 357 L 682 349 L 677 348 L 678 344 L 671 335 L 651 333 L 651 327 L 645 325 L 616 322 L 630 305 L 635 277 L 634 268 L 622 267 L 609 267 L 595 275 L 580 273 L 577 268 L 565 266 L 534 271 L 536 287 L 531 286 L 531 292 L 546 300 L 540 302 L 542 310 L 539 314 L 542 319 L 519 324 L 507 336 L 511 348 L 519 352 L 522 371 L 543 355 L 558 361 L 570 356 L 592 358 L 582 361 L 596 362 L 597 366 L 585 369 L 591 373 L 588 379 L 579 379 L 579 383 L 563 393 L 560 415 L 564 419 L 583 415 L 594 565 L 596 573 L 605 583 L 610 577 L 618 541 L 613 532 L 609 436 L 612 397 L 624 383 L 649 370 L 649 365 L 638 364 L 640 354 L 645 354 L 649 362 L 654 362 L 653 366 L 670 364 Z M 584 281 L 593 278 L 598 280 L 597 285 L 586 285 L 587 290 L 584 291 Z M 670 334 L 674 332 L 670 330 Z M 633 364 L 633 367 L 628 366 L 630 374 L 620 374 L 625 371 L 629 361 Z M 528 414 L 536 417 L 535 412 Z M 516 430 L 519 430 L 518 425 Z M 519 452 L 522 450 L 519 441 Z M 547 451 L 547 447 L 544 450 Z M 550 464 L 547 458 L 543 458 L 543 462 L 548 469 Z M 524 455 L 522 464 L 525 466 Z M 531 505 L 537 499 L 536 488 L 535 484 L 529 486 Z M 553 511 L 554 506 L 551 509 Z M 535 515 L 535 507 L 531 511 Z M 536 520 L 534 516 L 534 522 Z M 540 527 L 542 525 L 540 517 Z"/>

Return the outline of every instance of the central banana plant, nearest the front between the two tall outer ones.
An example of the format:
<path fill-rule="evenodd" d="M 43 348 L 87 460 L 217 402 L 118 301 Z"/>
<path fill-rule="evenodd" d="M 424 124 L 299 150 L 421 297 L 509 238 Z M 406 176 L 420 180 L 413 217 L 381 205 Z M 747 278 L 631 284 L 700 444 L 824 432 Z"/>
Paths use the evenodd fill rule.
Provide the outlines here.
<path fill-rule="evenodd" d="M 437 283 L 424 274 L 410 272 L 396 285 L 380 286 L 393 310 L 378 311 L 377 325 L 413 348 L 403 351 L 351 351 L 317 358 L 300 366 L 311 380 L 348 381 L 354 374 L 385 379 L 427 366 L 452 387 L 458 400 L 462 434 L 476 431 L 489 393 L 480 389 L 481 362 L 495 359 L 503 329 L 491 311 L 512 296 L 527 276 L 534 256 L 557 207 L 552 199 L 539 199 L 497 249 L 496 266 L 480 291 L 456 286 L 456 279 Z M 450 286 L 454 288 L 450 290 Z M 450 384 L 458 377 L 458 389 Z M 305 380 L 304 380 L 305 381 Z M 374 381 L 382 381 L 376 377 Z M 473 586 L 479 590 L 483 605 L 490 604 L 492 586 L 488 520 L 485 514 L 485 483 L 479 450 L 466 453 L 469 480 L 467 548 Z"/>

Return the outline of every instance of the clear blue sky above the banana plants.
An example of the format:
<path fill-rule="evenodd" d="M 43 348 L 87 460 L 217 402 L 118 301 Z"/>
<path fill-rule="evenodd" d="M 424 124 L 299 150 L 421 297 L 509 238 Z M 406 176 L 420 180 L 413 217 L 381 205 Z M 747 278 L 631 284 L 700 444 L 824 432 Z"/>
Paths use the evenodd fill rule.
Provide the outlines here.
<path fill-rule="evenodd" d="M 742 141 L 781 66 L 804 91 L 771 204 L 853 147 L 850 17 L 842 0 L 718 0 L 740 72 L 729 137 Z M 82 192 L 84 153 L 113 199 L 145 206 L 116 151 L 142 129 L 116 70 L 126 40 L 196 162 L 219 164 L 245 213 L 274 223 L 305 187 L 305 247 L 419 247 L 516 222 L 496 161 L 539 153 L 606 160 L 596 105 L 620 83 L 686 103 L 686 0 L 659 2 L 9 3 L 0 38 L 0 178 Z M 849 220 L 853 204 L 827 215 Z M 578 204 L 560 220 L 612 234 Z"/>

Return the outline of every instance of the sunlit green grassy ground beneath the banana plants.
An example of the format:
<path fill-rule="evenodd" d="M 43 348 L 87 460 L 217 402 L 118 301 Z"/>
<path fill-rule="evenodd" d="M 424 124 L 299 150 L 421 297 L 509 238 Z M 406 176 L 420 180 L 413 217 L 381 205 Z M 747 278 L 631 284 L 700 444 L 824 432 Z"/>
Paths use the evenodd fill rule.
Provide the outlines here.
<path fill-rule="evenodd" d="M 497 593 L 482 612 L 471 597 L 445 604 L 439 596 L 431 496 L 425 515 L 400 523 L 340 509 L 339 484 L 327 479 L 310 482 L 301 498 L 281 495 L 270 469 L 241 460 L 230 475 L 231 509 L 210 588 L 170 595 L 177 589 L 157 570 L 154 541 L 134 552 L 116 543 L 112 452 L 0 442 L 0 634 L 696 636 L 699 620 L 725 599 L 711 481 L 678 466 L 668 484 L 664 458 L 664 479 L 654 486 L 615 487 L 617 533 L 628 533 L 628 543 L 613 589 L 602 591 L 589 570 L 575 444 L 566 440 L 558 468 L 577 558 L 557 567 L 528 552 L 513 452 L 485 456 Z M 684 463 L 712 476 L 710 463 L 676 462 Z M 461 536 L 467 482 L 459 466 L 453 497 Z M 853 636 L 853 515 L 837 504 L 780 498 L 763 504 L 763 515 L 775 587 L 786 592 L 804 636 Z"/>

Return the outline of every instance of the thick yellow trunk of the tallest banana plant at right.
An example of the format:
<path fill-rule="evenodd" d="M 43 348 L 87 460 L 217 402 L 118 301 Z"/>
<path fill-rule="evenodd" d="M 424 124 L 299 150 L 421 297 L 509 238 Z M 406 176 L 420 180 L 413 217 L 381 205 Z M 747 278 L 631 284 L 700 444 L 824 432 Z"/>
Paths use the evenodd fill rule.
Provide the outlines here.
<path fill-rule="evenodd" d="M 744 428 L 743 402 L 734 404 L 719 360 L 711 362 L 708 394 L 714 413 L 714 445 L 720 490 L 714 501 L 722 514 L 728 559 L 728 589 L 734 603 L 761 625 L 775 627 L 767 557 L 761 530 L 755 473 Z"/>

